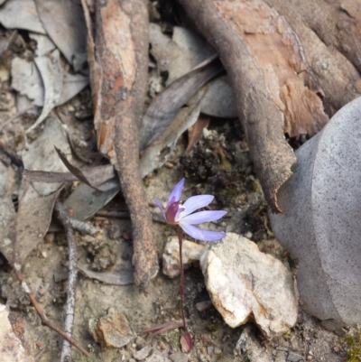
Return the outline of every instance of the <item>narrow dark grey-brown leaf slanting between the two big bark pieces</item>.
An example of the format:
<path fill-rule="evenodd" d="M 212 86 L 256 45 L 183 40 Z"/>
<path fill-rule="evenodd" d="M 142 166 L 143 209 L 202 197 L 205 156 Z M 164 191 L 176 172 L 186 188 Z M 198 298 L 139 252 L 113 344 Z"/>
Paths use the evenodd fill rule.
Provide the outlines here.
<path fill-rule="evenodd" d="M 223 67 L 211 58 L 204 64 L 180 77 L 153 99 L 143 116 L 140 150 L 152 144 L 171 124 L 175 115 L 197 90 L 215 77 Z"/>

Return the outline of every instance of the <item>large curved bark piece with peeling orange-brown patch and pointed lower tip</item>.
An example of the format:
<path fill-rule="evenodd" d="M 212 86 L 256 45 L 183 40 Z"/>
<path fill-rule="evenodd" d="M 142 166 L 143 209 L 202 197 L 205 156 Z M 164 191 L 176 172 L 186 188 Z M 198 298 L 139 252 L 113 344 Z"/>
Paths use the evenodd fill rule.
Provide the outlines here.
<path fill-rule="evenodd" d="M 220 55 L 265 199 L 280 211 L 276 192 L 296 161 L 283 133 L 314 135 L 328 121 L 301 42 L 261 0 L 179 2 Z"/>

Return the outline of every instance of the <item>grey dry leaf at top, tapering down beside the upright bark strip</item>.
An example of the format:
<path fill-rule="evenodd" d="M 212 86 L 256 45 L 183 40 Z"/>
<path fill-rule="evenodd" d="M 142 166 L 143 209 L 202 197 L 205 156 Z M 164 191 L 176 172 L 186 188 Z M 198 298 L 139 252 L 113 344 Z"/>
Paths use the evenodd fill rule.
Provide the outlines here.
<path fill-rule="evenodd" d="M 87 28 L 80 0 L 35 0 L 42 26 L 75 71 L 87 60 Z"/>

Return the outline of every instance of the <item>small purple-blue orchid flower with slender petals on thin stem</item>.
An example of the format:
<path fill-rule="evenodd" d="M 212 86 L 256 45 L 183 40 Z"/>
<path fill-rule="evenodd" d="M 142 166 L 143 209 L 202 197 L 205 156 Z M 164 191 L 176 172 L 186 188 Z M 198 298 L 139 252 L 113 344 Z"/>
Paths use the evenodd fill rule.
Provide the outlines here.
<path fill-rule="evenodd" d="M 199 211 L 192 213 L 196 209 L 208 206 L 214 196 L 199 195 L 192 196 L 186 200 L 183 205 L 180 204 L 181 190 L 183 189 L 184 179 L 181 179 L 175 188 L 171 191 L 168 198 L 168 204 L 164 210 L 160 200 L 154 200 L 156 205 L 161 209 L 163 217 L 170 224 L 178 224 L 183 231 L 190 237 L 202 241 L 215 241 L 226 237 L 226 234 L 221 231 L 204 230 L 194 225 L 202 222 L 215 221 L 227 214 L 227 211 Z"/>

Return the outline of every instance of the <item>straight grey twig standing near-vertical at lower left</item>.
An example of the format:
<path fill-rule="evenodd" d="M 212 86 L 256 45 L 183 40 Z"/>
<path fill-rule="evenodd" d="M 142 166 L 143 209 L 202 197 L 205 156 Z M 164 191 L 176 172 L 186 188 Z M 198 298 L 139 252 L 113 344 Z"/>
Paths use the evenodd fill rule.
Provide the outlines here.
<path fill-rule="evenodd" d="M 60 219 L 62 222 L 62 220 Z M 67 240 L 69 245 L 69 279 L 68 279 L 68 298 L 67 307 L 65 311 L 64 331 L 71 336 L 74 327 L 74 310 L 76 299 L 76 286 L 78 277 L 77 267 L 77 246 L 75 242 L 74 230 L 68 226 L 66 222 L 63 223 L 66 229 Z M 71 360 L 71 349 L 68 340 L 64 339 L 61 350 L 60 362 L 69 362 Z"/>

